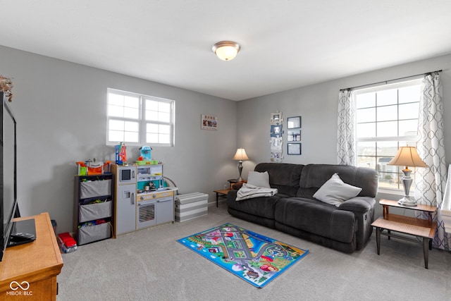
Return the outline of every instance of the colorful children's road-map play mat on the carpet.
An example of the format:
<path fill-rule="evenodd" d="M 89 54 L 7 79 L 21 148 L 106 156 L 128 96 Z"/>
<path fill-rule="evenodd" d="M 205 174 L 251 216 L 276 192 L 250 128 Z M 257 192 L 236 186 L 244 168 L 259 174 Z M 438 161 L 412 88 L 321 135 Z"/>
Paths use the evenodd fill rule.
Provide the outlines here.
<path fill-rule="evenodd" d="M 225 223 L 178 240 L 245 281 L 263 288 L 309 250 Z"/>

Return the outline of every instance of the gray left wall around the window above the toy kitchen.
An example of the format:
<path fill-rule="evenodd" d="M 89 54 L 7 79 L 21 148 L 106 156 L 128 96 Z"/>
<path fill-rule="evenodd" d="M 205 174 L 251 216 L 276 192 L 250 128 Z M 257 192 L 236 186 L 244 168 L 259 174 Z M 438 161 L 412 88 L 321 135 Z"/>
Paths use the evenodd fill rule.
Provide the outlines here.
<path fill-rule="evenodd" d="M 0 47 L 1 70 L 13 78 L 18 121 L 18 202 L 23 216 L 49 212 L 58 233 L 71 231 L 75 161 L 114 160 L 106 146 L 106 88 L 175 100 L 175 147 L 153 147 L 181 193 L 213 190 L 237 177 L 237 103 L 156 82 Z M 218 130 L 201 130 L 201 114 Z M 152 145 L 151 145 L 152 146 Z M 128 147 L 128 159 L 139 156 Z"/>

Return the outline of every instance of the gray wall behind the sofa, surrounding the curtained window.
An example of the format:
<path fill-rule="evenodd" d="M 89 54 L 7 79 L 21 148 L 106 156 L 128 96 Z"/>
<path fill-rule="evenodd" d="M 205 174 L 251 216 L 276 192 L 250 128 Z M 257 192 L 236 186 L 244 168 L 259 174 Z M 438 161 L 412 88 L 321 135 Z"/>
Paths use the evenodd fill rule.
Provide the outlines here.
<path fill-rule="evenodd" d="M 443 84 L 445 106 L 445 152 L 447 164 L 451 163 L 451 54 L 433 59 L 417 61 L 392 68 L 385 68 L 369 73 L 340 78 L 329 82 L 299 87 L 294 90 L 247 99 L 238 103 L 237 110 L 237 146 L 244 147 L 250 161 L 243 163 L 243 178 L 259 162 L 270 159 L 269 132 L 271 113 L 283 113 L 283 153 L 284 163 L 295 164 L 337 164 L 337 111 L 338 92 L 340 89 L 368 85 L 402 78 L 404 76 L 426 73 L 443 69 L 440 80 Z M 302 116 L 301 142 L 302 155 L 288 155 L 287 118 Z M 401 192 L 400 192 L 401 193 Z M 400 199 L 400 195 L 379 192 L 378 198 Z M 377 207 L 376 214 L 381 214 Z M 405 211 L 405 210 L 404 210 Z M 403 212 L 404 212 L 403 211 Z M 406 214 L 412 214 L 407 210 Z M 394 213 L 397 213 L 396 210 Z M 400 212 L 398 212 L 400 213 Z"/>

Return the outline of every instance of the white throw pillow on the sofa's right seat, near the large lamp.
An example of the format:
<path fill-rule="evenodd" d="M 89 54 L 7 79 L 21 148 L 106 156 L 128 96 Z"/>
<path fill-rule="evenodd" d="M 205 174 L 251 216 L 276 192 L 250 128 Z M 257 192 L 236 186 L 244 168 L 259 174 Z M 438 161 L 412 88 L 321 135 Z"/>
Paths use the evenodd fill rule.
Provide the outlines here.
<path fill-rule="evenodd" d="M 337 173 L 334 173 L 333 176 L 315 192 L 313 197 L 319 199 L 321 202 L 338 207 L 347 199 L 357 197 L 361 191 L 362 188 L 346 184 L 340 179 Z"/>

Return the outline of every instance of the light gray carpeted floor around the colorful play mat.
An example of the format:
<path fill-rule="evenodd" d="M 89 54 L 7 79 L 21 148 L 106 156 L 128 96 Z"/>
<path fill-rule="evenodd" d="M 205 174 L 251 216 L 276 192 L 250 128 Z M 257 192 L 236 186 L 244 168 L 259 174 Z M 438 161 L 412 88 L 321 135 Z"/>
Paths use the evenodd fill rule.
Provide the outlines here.
<path fill-rule="evenodd" d="M 254 288 L 176 241 L 226 222 L 310 253 L 264 288 Z M 451 300 L 450 252 L 431 250 L 424 269 L 421 245 L 381 240 L 381 255 L 374 233 L 364 250 L 344 254 L 235 219 L 221 203 L 206 217 L 63 254 L 58 300 Z"/>

